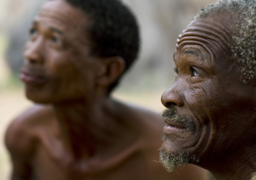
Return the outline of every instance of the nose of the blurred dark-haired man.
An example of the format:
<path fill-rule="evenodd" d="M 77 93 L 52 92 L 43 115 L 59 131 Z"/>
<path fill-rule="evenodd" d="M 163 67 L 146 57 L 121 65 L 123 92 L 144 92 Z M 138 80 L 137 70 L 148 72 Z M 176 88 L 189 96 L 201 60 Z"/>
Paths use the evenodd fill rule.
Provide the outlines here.
<path fill-rule="evenodd" d="M 28 41 L 24 49 L 25 61 L 31 64 L 43 63 L 43 40 L 38 38 L 34 41 Z"/>

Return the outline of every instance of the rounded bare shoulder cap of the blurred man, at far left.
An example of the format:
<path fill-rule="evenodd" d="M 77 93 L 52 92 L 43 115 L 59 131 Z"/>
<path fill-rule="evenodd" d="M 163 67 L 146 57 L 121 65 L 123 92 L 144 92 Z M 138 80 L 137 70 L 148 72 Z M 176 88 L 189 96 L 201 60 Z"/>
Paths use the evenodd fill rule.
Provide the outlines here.
<path fill-rule="evenodd" d="M 30 149 L 36 140 L 36 129 L 48 116 L 52 116 L 50 106 L 34 105 L 16 117 L 6 131 L 7 148 L 11 152 Z"/>

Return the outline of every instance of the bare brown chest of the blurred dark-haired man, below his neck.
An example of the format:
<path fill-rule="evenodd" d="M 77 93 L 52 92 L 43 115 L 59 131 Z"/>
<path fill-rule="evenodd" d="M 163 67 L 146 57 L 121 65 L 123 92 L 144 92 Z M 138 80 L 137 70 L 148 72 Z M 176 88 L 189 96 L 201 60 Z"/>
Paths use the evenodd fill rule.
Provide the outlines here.
<path fill-rule="evenodd" d="M 77 159 L 60 139 L 52 136 L 41 139 L 33 159 L 33 171 L 38 180 L 151 179 L 138 142 L 109 157 Z"/>

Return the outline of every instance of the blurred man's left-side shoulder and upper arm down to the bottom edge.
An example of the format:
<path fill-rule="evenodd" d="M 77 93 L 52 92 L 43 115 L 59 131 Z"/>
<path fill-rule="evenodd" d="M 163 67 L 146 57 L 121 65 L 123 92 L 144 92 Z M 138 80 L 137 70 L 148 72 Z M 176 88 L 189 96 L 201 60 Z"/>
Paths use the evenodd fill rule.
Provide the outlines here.
<path fill-rule="evenodd" d="M 32 178 L 32 159 L 39 140 L 38 128 L 45 126 L 52 116 L 50 106 L 34 105 L 9 125 L 5 142 L 13 164 L 12 179 Z"/>

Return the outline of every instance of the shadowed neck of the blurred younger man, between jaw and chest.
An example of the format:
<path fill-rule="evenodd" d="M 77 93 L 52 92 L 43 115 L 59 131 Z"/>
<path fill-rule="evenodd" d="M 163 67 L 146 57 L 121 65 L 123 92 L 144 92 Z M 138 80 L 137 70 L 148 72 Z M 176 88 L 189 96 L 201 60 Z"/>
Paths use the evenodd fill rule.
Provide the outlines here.
<path fill-rule="evenodd" d="M 121 145 L 121 136 L 131 129 L 126 128 L 127 122 L 116 118 L 117 106 L 117 102 L 109 97 L 93 102 L 79 100 L 54 104 L 60 131 L 75 157 L 89 158 L 103 151 L 107 153 L 108 147 Z M 132 142 L 133 138 L 125 139 L 125 142 Z"/>

